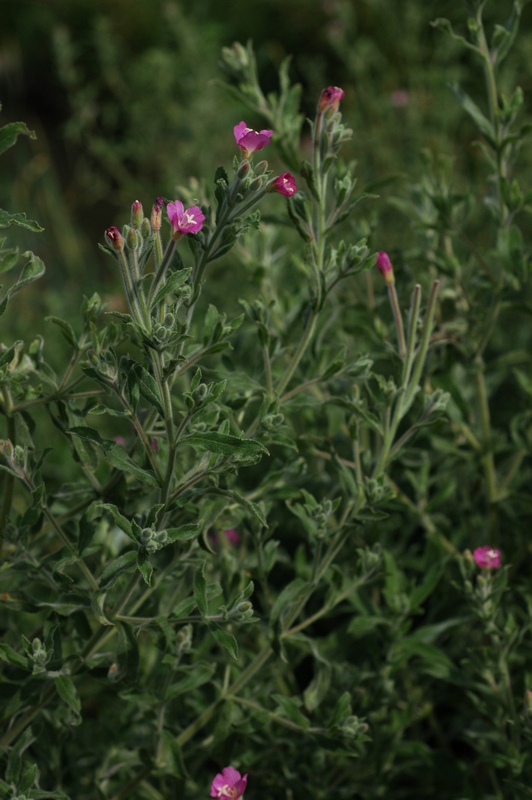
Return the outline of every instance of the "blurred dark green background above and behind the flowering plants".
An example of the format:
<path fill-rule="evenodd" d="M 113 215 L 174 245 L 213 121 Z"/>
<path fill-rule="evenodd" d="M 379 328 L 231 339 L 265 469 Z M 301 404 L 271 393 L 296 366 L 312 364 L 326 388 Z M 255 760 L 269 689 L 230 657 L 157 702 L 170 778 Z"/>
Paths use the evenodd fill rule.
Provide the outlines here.
<path fill-rule="evenodd" d="M 488 27 L 511 6 L 488 2 Z M 525 96 L 531 8 L 504 75 Z M 308 116 L 323 86 L 344 88 L 354 128 L 346 158 L 358 161 L 361 184 L 395 175 L 363 208 L 374 218 L 372 244 L 408 248 L 410 229 L 387 197 L 422 174 L 421 149 L 455 157 L 464 186 L 481 182 L 484 170 L 472 124 L 447 86 L 461 81 L 483 106 L 482 75 L 431 27 L 440 16 L 465 32 L 461 0 L 0 0 L 1 122 L 24 120 L 37 133 L 0 159 L 0 206 L 45 228 L 9 239 L 47 265 L 45 280 L 13 301 L 7 338 L 22 324 L 17 309 L 25 328 L 41 329 L 45 313 L 75 315 L 82 294 L 112 297 L 118 276 L 97 248 L 105 228 L 126 222 L 135 199 L 149 209 L 191 176 L 210 179 L 218 164 L 230 166 L 233 125 L 263 124 L 217 82 L 220 49 L 235 40 L 253 40 L 268 91 L 293 55 Z M 529 168 L 530 157 L 521 164 Z"/>

